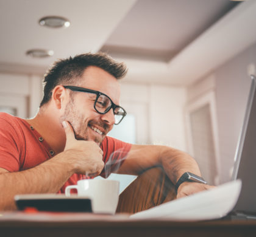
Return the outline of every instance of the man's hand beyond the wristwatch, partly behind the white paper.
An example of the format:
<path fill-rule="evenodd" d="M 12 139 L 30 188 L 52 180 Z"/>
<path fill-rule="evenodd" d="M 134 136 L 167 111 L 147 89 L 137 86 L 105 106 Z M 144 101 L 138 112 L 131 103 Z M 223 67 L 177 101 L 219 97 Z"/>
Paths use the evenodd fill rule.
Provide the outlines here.
<path fill-rule="evenodd" d="M 197 182 L 183 182 L 177 190 L 177 199 L 211 188 L 215 188 L 215 186 L 199 184 Z"/>

